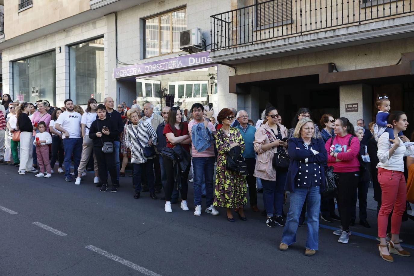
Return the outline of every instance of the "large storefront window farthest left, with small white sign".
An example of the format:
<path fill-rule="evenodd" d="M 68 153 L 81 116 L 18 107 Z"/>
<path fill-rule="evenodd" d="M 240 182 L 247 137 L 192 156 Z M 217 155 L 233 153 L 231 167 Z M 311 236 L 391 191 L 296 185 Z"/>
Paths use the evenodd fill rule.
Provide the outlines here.
<path fill-rule="evenodd" d="M 13 62 L 13 100 L 32 102 L 48 100 L 56 104 L 55 52 Z"/>

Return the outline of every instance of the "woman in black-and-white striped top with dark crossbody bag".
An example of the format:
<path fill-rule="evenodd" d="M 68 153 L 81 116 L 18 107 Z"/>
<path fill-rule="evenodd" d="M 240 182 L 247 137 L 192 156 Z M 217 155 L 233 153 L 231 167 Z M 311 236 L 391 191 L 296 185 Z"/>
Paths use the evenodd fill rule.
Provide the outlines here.
<path fill-rule="evenodd" d="M 141 173 L 147 174 L 149 186 L 149 196 L 157 199 L 154 189 L 154 171 L 152 167 L 147 165 L 147 157 L 144 156 L 144 147 L 150 146 L 148 143 L 150 138 L 152 145 L 157 143 L 157 135 L 151 123 L 140 121 L 137 109 L 131 108 L 127 111 L 127 117 L 132 122 L 126 127 L 125 146 L 131 152 L 131 162 L 133 164 L 133 177 L 135 183 L 134 199 L 139 199 L 141 195 Z"/>

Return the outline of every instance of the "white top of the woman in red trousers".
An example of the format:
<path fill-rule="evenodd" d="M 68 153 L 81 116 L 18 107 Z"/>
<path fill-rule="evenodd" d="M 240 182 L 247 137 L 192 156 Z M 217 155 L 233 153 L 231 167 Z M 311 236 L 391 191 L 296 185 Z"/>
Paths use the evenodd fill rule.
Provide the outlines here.
<path fill-rule="evenodd" d="M 377 156 L 380 162 L 377 168 L 388 169 L 390 171 L 404 172 L 404 156 L 414 154 L 413 146 L 406 148 L 400 137 L 400 146 L 397 150 L 389 157 L 389 150 L 391 148 L 390 135 L 388 132 L 384 132 L 378 139 L 378 152 Z"/>

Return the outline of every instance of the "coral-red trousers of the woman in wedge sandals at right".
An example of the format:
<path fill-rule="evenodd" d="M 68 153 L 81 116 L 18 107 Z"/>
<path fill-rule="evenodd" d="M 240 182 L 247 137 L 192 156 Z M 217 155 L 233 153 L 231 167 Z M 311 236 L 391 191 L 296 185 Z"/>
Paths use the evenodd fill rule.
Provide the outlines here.
<path fill-rule="evenodd" d="M 378 213 L 378 237 L 387 235 L 388 216 L 391 216 L 391 233 L 400 234 L 402 214 L 407 201 L 406 183 L 403 172 L 390 171 L 378 168 L 378 182 L 380 183 L 381 208 Z"/>

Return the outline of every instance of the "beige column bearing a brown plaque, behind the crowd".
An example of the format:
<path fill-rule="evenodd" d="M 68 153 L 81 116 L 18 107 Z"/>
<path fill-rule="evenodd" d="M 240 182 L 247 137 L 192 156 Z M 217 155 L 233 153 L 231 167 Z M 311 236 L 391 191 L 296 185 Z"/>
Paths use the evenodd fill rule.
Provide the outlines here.
<path fill-rule="evenodd" d="M 358 111 L 347 112 L 347 104 L 357 104 Z M 356 121 L 362 118 L 368 127 L 372 117 L 372 105 L 372 87 L 370 85 L 359 83 L 339 86 L 339 115 L 348 118 L 354 126 L 356 126 Z"/>

